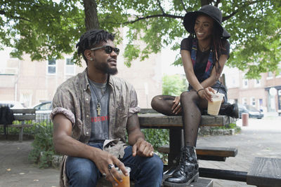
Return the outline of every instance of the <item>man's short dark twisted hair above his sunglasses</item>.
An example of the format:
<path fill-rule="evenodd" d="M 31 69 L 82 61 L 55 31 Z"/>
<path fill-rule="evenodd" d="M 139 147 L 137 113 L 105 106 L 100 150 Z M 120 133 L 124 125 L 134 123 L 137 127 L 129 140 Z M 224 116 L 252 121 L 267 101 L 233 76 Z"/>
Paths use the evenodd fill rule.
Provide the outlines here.
<path fill-rule="evenodd" d="M 102 41 L 107 42 L 108 40 L 113 41 L 115 38 L 114 34 L 106 32 L 102 29 L 91 29 L 85 32 L 79 39 L 79 42 L 76 44 L 78 56 L 82 54 L 86 64 L 88 64 L 86 57 L 84 55 L 85 50 L 94 48 Z"/>

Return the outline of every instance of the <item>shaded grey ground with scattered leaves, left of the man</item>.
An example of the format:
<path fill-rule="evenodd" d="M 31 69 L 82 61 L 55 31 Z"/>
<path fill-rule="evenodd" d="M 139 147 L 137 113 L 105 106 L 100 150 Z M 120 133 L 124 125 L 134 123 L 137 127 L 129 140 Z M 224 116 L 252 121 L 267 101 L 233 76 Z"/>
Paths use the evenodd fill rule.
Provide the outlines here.
<path fill-rule="evenodd" d="M 39 169 L 28 161 L 33 140 L 0 141 L 1 187 L 53 187 L 58 186 L 58 169 Z"/>

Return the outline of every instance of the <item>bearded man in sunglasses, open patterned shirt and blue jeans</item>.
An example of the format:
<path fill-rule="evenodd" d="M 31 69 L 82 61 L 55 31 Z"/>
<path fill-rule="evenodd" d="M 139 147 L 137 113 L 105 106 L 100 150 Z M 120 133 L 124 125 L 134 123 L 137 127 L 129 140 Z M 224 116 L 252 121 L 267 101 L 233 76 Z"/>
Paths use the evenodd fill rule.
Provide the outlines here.
<path fill-rule="evenodd" d="M 58 87 L 53 98 L 53 143 L 63 153 L 60 186 L 96 186 L 100 177 L 117 185 L 115 167 L 136 186 L 160 186 L 163 163 L 145 141 L 133 86 L 117 74 L 119 49 L 114 36 L 100 29 L 77 43 L 87 68 Z M 126 145 L 125 130 L 128 133 Z"/>

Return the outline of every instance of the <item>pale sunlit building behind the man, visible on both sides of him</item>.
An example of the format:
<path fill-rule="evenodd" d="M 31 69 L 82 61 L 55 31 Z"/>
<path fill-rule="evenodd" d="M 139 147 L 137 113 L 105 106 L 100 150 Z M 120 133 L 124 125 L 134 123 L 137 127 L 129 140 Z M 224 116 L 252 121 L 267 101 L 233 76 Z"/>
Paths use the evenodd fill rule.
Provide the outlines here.
<path fill-rule="evenodd" d="M 124 45 L 118 45 L 120 54 L 117 60 L 119 73 L 117 76 L 133 84 L 138 94 L 141 108 L 151 108 L 150 101 L 155 95 L 162 93 L 161 55 L 152 54 L 147 60 L 132 62 L 131 67 L 124 65 Z M 71 55 L 63 60 L 32 62 L 29 55 L 23 60 L 8 59 L 0 68 L 0 101 L 19 101 L 27 107 L 45 100 L 53 99 L 58 85 L 67 78 L 84 71 L 74 65 Z M 5 63 L 5 62 L 0 62 Z"/>

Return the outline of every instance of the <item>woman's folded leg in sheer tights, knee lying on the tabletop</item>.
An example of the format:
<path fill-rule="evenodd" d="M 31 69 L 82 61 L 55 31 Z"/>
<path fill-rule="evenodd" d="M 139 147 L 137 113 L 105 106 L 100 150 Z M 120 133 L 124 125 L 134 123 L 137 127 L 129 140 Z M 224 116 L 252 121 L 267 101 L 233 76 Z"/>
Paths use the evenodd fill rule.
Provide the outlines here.
<path fill-rule="evenodd" d="M 171 95 L 157 95 L 153 97 L 151 101 L 151 107 L 152 109 L 155 109 L 155 111 L 159 113 L 163 113 L 166 116 L 179 116 L 181 115 L 181 112 L 178 114 L 173 113 L 171 110 L 171 107 L 174 104 L 174 99 L 176 97 Z"/>

